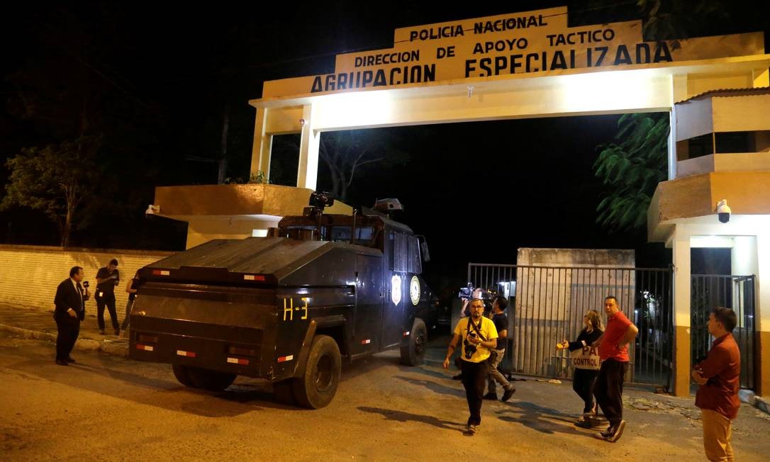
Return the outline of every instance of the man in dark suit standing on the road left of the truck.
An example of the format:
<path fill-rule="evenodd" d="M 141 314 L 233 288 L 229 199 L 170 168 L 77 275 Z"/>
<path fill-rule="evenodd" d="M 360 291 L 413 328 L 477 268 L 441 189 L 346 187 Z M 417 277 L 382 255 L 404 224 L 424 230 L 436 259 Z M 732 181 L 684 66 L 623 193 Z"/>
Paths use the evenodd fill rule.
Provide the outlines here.
<path fill-rule="evenodd" d="M 89 290 L 82 286 L 85 277 L 80 266 L 72 266 L 69 278 L 56 287 L 53 300 L 55 310 L 53 319 L 59 336 L 56 337 L 56 363 L 59 366 L 69 366 L 75 360 L 69 356 L 80 333 L 80 321 L 85 319 L 85 300 L 89 300 Z"/>

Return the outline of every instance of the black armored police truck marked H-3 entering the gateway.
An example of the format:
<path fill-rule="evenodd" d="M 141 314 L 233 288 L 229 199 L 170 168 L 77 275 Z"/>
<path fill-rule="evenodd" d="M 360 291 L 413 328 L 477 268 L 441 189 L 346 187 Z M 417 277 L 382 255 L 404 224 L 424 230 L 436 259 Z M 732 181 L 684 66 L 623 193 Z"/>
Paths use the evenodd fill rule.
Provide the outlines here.
<path fill-rule="evenodd" d="M 215 239 L 139 270 L 130 357 L 171 363 L 187 387 L 223 390 L 236 376 L 273 384 L 281 400 L 330 403 L 343 360 L 400 349 L 422 363 L 437 300 L 425 284 L 427 246 L 388 211 L 303 216 L 266 237 Z"/>

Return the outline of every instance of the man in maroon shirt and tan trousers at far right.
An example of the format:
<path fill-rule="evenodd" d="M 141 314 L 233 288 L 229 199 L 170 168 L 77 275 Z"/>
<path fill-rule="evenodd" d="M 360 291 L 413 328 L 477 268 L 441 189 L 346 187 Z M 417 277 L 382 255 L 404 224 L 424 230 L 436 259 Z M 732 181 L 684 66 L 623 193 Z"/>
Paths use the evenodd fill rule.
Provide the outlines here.
<path fill-rule="evenodd" d="M 692 369 L 692 378 L 701 387 L 695 406 L 701 408 L 703 447 L 708 460 L 734 460 L 731 420 L 738 417 L 738 376 L 741 353 L 732 337 L 735 313 L 729 308 L 715 308 L 708 316 L 708 333 L 715 337 L 705 360 Z"/>

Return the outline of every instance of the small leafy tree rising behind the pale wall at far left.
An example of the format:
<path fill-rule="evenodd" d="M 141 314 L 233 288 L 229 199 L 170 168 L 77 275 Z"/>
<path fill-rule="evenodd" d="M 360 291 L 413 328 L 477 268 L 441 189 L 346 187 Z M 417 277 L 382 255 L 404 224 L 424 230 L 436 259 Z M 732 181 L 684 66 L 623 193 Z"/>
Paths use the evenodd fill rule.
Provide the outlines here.
<path fill-rule="evenodd" d="M 61 245 L 69 246 L 75 213 L 95 192 L 99 172 L 92 161 L 99 139 L 78 139 L 44 148 L 24 148 L 6 161 L 10 171 L 0 209 L 29 207 L 59 227 Z"/>

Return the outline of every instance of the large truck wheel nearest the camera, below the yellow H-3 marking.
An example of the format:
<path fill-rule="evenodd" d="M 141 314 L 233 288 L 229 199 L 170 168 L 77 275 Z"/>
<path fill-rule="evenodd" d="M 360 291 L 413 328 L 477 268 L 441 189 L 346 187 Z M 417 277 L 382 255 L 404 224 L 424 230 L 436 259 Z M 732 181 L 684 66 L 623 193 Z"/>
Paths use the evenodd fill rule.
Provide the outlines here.
<path fill-rule="evenodd" d="M 325 407 L 336 393 L 341 370 L 340 347 L 330 336 L 316 336 L 310 345 L 305 373 L 292 382 L 294 399 L 310 409 Z"/>

